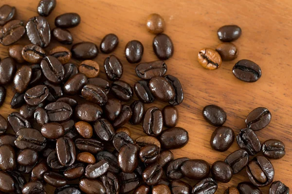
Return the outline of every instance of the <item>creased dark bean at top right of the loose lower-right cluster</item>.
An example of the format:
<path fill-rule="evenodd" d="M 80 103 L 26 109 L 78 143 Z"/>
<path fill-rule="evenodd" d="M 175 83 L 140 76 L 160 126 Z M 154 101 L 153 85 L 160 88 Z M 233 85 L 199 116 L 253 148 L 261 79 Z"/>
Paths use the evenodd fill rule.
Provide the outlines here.
<path fill-rule="evenodd" d="M 254 131 L 265 128 L 271 122 L 271 112 L 264 108 L 258 107 L 253 110 L 245 119 L 246 126 Z"/>

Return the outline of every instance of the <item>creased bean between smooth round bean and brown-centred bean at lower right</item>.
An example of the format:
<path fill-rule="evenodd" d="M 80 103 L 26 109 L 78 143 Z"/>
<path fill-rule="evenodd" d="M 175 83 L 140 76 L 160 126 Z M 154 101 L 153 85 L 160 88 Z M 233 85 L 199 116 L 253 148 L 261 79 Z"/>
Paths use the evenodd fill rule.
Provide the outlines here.
<path fill-rule="evenodd" d="M 247 151 L 239 149 L 229 154 L 224 162 L 228 163 L 231 166 L 233 173 L 236 174 L 247 165 L 248 161 L 249 155 Z"/>

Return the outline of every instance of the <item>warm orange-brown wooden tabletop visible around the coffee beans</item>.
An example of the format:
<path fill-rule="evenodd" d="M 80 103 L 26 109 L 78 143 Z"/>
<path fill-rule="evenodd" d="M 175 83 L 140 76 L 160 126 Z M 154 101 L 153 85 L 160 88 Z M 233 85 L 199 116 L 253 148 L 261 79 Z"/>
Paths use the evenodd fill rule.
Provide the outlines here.
<path fill-rule="evenodd" d="M 239 149 L 237 143 L 221 153 L 212 150 L 210 137 L 215 127 L 206 123 L 202 109 L 208 104 L 222 107 L 227 115 L 226 126 L 234 129 L 245 127 L 244 120 L 256 107 L 266 107 L 272 113 L 268 127 L 257 131 L 260 141 L 276 138 L 286 145 L 286 156 L 282 160 L 272 160 L 275 168 L 274 180 L 281 180 L 292 189 L 292 1 L 291 0 L 57 0 L 57 6 L 48 17 L 51 28 L 55 27 L 56 16 L 76 12 L 81 16 L 81 24 L 70 29 L 74 43 L 91 41 L 97 45 L 108 33 L 115 33 L 120 43 L 112 53 L 119 57 L 124 65 L 121 80 L 133 85 L 139 78 L 135 75 L 136 65 L 129 64 L 124 49 L 128 41 L 137 39 L 144 45 L 142 62 L 157 60 L 153 49 L 153 34 L 146 30 L 146 17 L 158 13 L 164 17 L 165 33 L 174 43 L 175 52 L 166 61 L 167 74 L 179 78 L 183 85 L 184 101 L 177 106 L 180 112 L 178 126 L 189 132 L 189 143 L 182 149 L 172 150 L 175 158 L 189 157 L 204 159 L 210 164 L 224 160 L 231 152 Z M 38 0 L 1 0 L 0 4 L 10 4 L 17 8 L 17 18 L 27 21 L 37 16 Z M 213 48 L 220 43 L 217 37 L 219 27 L 237 24 L 242 29 L 241 37 L 234 42 L 239 50 L 238 58 L 232 62 L 223 62 L 218 70 L 207 70 L 197 61 L 198 51 Z M 27 37 L 22 43 L 29 43 Z M 56 45 L 46 49 L 49 51 Z M 0 46 L 0 57 L 7 57 L 7 48 Z M 71 48 L 71 46 L 68 46 Z M 97 61 L 101 67 L 100 77 L 106 78 L 103 61 L 108 55 L 98 54 Z M 255 83 L 237 80 L 232 67 L 240 59 L 249 59 L 262 69 L 262 77 Z M 78 64 L 80 61 L 74 61 Z M 7 97 L 0 113 L 7 117 L 13 112 L 10 100 L 14 94 L 8 87 Z M 134 97 L 133 99 L 137 99 Z M 155 101 L 146 108 L 166 104 Z M 142 125 L 131 126 L 132 138 L 145 135 Z M 245 170 L 233 176 L 227 184 L 219 183 L 218 194 L 229 186 L 248 181 Z M 194 180 L 186 179 L 192 186 Z M 53 190 L 52 190 L 53 191 Z M 268 194 L 268 187 L 262 191 Z"/>

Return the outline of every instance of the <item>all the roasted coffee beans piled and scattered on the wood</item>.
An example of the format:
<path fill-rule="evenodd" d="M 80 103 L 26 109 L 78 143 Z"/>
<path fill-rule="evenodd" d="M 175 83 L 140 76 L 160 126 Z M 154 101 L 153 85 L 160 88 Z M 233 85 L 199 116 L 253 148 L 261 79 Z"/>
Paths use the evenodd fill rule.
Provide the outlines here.
<path fill-rule="evenodd" d="M 239 183 L 225 194 L 261 194 L 258 187 L 273 182 L 274 168 L 267 158 L 282 158 L 285 145 L 275 139 L 262 145 L 259 142 L 254 131 L 271 121 L 271 113 L 265 108 L 257 108 L 247 116 L 247 128 L 237 135 L 241 149 L 225 161 L 210 166 L 200 159 L 174 159 L 170 150 L 185 146 L 189 136 L 187 130 L 177 127 L 179 112 L 175 106 L 183 102 L 182 85 L 176 77 L 165 75 L 167 65 L 162 60 L 173 56 L 174 46 L 162 33 L 162 16 L 151 14 L 146 21 L 147 30 L 156 34 L 153 50 L 160 60 L 138 64 L 135 71 L 141 80 L 132 87 L 121 80 L 125 69 L 116 56 L 104 60 L 109 81 L 98 78 L 102 69 L 92 60 L 99 50 L 109 54 L 118 47 L 115 34 L 107 34 L 99 49 L 92 42 L 80 42 L 71 50 L 62 46 L 45 50 L 51 38 L 73 44 L 68 28 L 81 22 L 78 14 L 65 13 L 55 18 L 56 28 L 51 31 L 45 17 L 55 6 L 56 0 L 41 0 L 39 16 L 27 23 L 15 19 L 15 7 L 0 7 L 0 43 L 10 45 L 9 57 L 0 61 L 0 105 L 6 96 L 4 86 L 12 83 L 16 93 L 11 108 L 20 108 L 10 113 L 7 121 L 0 115 L 0 193 L 47 194 L 48 184 L 56 188 L 54 194 L 214 194 L 218 181 L 229 182 L 244 167 L 251 183 Z M 25 33 L 31 44 L 15 44 Z M 217 69 L 222 60 L 235 59 L 237 48 L 229 42 L 240 34 L 237 26 L 220 28 L 219 39 L 224 43 L 217 51 L 202 49 L 200 64 Z M 126 45 L 129 63 L 139 63 L 143 53 L 143 44 L 138 40 Z M 72 58 L 82 62 L 76 66 Z M 17 64 L 25 65 L 17 68 Z M 256 81 L 260 68 L 241 60 L 234 74 L 243 81 Z M 139 100 L 132 101 L 134 94 Z M 145 104 L 155 99 L 168 105 L 163 110 L 145 110 Z M 226 151 L 235 138 L 234 131 L 223 126 L 227 114 L 209 105 L 203 116 L 218 127 L 212 134 L 211 146 Z M 133 140 L 130 129 L 124 127 L 128 122 L 142 124 L 146 135 Z M 8 133 L 10 127 L 12 134 Z M 249 161 L 249 156 L 261 150 L 264 156 Z M 191 187 L 181 178 L 198 182 Z M 272 183 L 270 194 L 288 193 L 289 188 L 280 181 Z"/>

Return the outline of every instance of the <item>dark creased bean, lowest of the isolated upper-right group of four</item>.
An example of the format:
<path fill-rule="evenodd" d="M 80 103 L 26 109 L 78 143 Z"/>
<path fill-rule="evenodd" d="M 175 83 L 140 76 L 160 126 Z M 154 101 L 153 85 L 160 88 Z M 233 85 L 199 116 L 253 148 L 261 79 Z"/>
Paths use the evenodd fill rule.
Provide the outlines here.
<path fill-rule="evenodd" d="M 258 81 L 261 77 L 261 68 L 247 59 L 238 61 L 234 65 L 232 72 L 237 79 L 247 82 Z"/>

